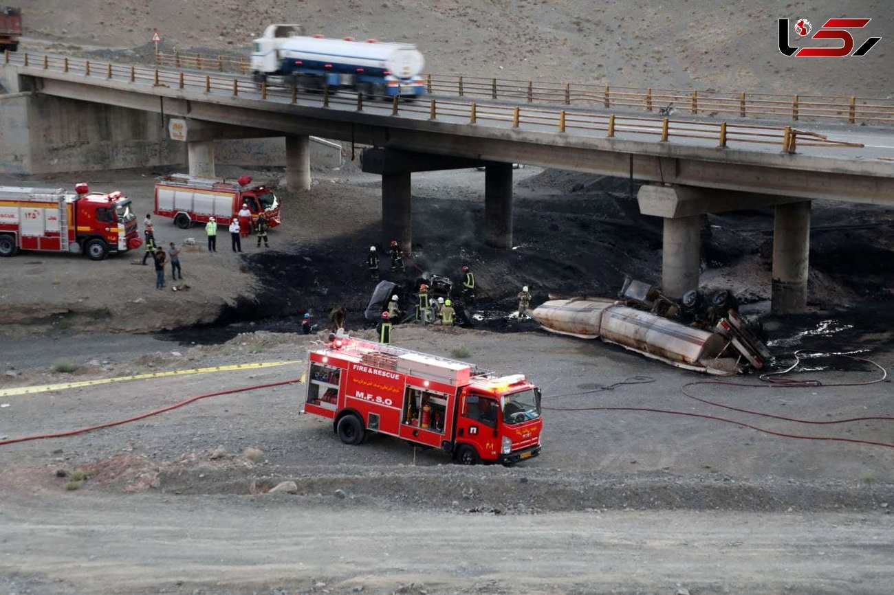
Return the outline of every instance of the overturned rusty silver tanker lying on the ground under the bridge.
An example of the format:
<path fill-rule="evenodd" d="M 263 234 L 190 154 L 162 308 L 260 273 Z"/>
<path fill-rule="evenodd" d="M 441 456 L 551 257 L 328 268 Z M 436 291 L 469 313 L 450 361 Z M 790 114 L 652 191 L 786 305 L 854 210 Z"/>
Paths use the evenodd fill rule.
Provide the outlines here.
<path fill-rule="evenodd" d="M 763 368 L 769 354 L 730 310 L 711 330 L 605 298 L 552 299 L 532 313 L 547 331 L 603 339 L 687 370 L 718 375 Z"/>

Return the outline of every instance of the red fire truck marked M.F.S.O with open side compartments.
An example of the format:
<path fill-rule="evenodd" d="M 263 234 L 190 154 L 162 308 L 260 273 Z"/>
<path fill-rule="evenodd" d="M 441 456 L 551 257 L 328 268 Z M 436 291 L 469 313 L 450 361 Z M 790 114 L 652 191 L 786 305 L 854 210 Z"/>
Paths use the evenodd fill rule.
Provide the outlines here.
<path fill-rule="evenodd" d="M 465 362 L 333 337 L 310 352 L 304 411 L 333 421 L 345 444 L 367 433 L 443 448 L 463 465 L 540 454 L 540 390 Z"/>

